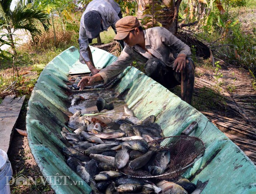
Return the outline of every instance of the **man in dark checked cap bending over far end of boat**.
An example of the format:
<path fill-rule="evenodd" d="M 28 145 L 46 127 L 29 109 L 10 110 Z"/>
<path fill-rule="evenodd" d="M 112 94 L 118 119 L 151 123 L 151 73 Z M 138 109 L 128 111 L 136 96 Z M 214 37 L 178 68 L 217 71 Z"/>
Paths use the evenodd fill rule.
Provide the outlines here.
<path fill-rule="evenodd" d="M 87 64 L 92 75 L 99 72 L 94 66 L 92 53 L 89 44 L 92 39 L 97 38 L 99 33 L 111 26 L 116 33 L 116 22 L 122 18 L 121 8 L 114 0 L 93 0 L 91 1 L 80 21 L 79 29 L 79 47 L 80 62 Z M 119 41 L 121 48 L 124 48 L 124 42 Z"/>

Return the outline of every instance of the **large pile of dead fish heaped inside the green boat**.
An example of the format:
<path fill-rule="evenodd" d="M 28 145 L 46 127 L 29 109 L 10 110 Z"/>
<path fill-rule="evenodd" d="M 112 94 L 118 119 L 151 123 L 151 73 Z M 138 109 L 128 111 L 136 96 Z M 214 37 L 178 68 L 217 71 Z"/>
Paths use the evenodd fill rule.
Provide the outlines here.
<path fill-rule="evenodd" d="M 61 131 L 67 147 L 62 150 L 67 164 L 93 190 L 93 193 L 198 193 L 188 179 L 139 179 L 123 173 L 123 169 L 147 172 L 147 176 L 164 174 L 170 161 L 168 149 L 150 150 L 148 143 L 162 138 L 161 127 L 150 115 L 141 121 L 128 107 L 114 120 L 114 130 L 77 110 Z M 73 132 L 70 132 L 72 129 Z M 196 189 L 197 188 L 197 189 Z M 200 193 L 200 192 L 199 192 Z"/>

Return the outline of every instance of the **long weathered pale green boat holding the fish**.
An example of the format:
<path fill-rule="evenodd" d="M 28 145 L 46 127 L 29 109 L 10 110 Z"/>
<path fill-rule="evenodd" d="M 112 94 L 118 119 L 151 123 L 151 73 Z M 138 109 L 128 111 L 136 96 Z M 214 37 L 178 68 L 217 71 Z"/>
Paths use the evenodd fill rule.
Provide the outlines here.
<path fill-rule="evenodd" d="M 91 47 L 96 67 L 104 68 L 116 56 Z M 57 194 L 91 193 L 91 187 L 67 164 L 61 150 L 61 130 L 69 117 L 67 94 L 70 74 L 89 72 L 79 62 L 74 46 L 56 56 L 41 72 L 28 103 L 26 128 L 31 152 L 45 179 Z M 100 89 L 91 89 L 91 92 Z M 203 194 L 256 193 L 256 166 L 242 150 L 195 108 L 134 67 L 127 67 L 113 85 L 116 93 L 140 120 L 156 116 L 165 137 L 180 135 L 191 122 L 198 127 L 190 136 L 204 142 L 205 152 L 183 176 L 191 182 L 208 181 Z"/>

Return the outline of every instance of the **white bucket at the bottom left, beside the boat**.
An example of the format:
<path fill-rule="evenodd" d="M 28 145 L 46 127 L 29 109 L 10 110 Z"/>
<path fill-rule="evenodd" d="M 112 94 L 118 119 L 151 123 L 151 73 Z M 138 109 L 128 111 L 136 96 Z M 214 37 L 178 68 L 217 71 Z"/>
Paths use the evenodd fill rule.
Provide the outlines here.
<path fill-rule="evenodd" d="M 12 176 L 11 163 L 8 160 L 7 153 L 0 149 L 0 194 L 10 194 L 10 185 L 8 184 Z"/>

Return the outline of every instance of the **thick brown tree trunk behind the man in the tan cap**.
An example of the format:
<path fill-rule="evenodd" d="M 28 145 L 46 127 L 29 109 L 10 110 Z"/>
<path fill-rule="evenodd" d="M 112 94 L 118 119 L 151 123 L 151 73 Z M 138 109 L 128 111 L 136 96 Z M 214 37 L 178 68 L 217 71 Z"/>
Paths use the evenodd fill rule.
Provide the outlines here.
<path fill-rule="evenodd" d="M 164 9 L 159 11 L 153 10 L 155 6 L 159 4 L 158 0 L 137 0 L 138 3 L 138 11 L 137 17 L 138 19 L 143 19 L 145 17 L 150 17 L 153 20 L 151 26 L 147 25 L 144 27 L 152 27 L 154 21 L 160 22 L 163 27 L 171 31 L 173 34 L 176 34 L 178 29 L 178 14 L 179 14 L 179 6 L 182 0 L 160 0 L 161 4 L 165 6 Z M 151 9 L 151 10 L 149 10 Z M 151 14 L 144 14 L 147 10 L 150 11 Z M 143 15 L 144 14 L 144 15 Z M 156 17 L 157 16 L 157 17 Z"/>

